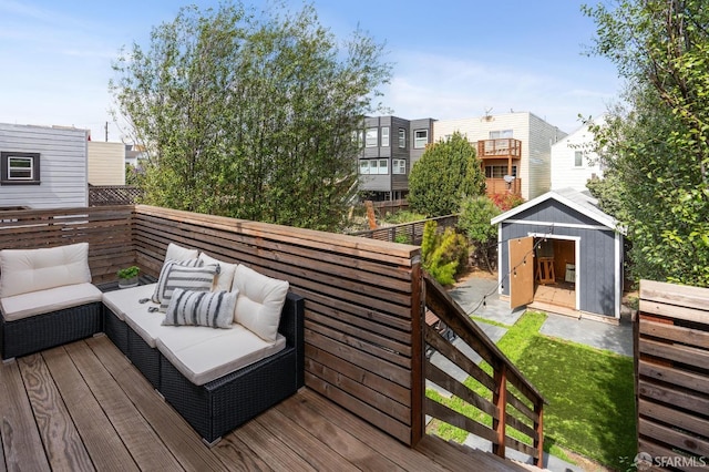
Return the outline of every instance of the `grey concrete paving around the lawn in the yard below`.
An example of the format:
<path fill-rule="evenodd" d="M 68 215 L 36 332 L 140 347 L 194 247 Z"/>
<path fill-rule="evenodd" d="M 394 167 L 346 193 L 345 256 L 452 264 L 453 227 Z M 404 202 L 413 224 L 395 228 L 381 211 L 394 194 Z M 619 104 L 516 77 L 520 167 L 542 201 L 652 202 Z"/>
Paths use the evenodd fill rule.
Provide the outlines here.
<path fill-rule="evenodd" d="M 483 318 L 484 320 L 512 326 L 517 322 L 524 314 L 525 308 L 511 310 L 508 301 L 500 299 L 497 288 L 497 280 L 470 278 L 452 289 L 450 295 L 466 314 Z M 481 320 L 476 320 L 476 322 L 494 342 L 497 342 L 506 332 L 506 329 L 503 327 L 490 325 Z M 564 315 L 547 314 L 547 318 L 544 325 L 542 325 L 540 332 L 579 345 L 609 350 L 621 356 L 633 356 L 633 327 L 628 321 L 621 321 L 619 326 L 616 326 L 590 319 L 577 319 Z M 456 340 L 456 342 L 460 340 Z M 466 355 L 476 362 L 480 361 L 480 357 L 472 352 L 472 350 L 470 353 L 466 352 Z M 433 355 L 431 360 L 456 379 L 462 381 L 466 378 L 465 372 L 438 352 Z M 430 387 L 435 388 L 433 384 Z M 440 391 L 440 389 L 438 390 Z M 441 391 L 441 394 L 450 396 L 450 393 L 444 391 Z M 492 450 L 492 443 L 490 441 L 473 434 L 469 434 L 464 443 L 483 451 Z M 507 451 L 510 459 L 532 463 L 532 458 L 513 449 L 508 449 Z M 583 472 L 582 468 L 546 453 L 544 454 L 544 468 L 554 472 Z"/>

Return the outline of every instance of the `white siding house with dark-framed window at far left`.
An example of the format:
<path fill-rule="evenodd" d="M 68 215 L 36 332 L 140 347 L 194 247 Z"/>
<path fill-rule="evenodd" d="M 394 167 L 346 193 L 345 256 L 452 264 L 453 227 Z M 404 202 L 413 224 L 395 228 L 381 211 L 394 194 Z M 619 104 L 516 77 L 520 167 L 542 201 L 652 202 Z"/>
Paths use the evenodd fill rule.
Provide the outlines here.
<path fill-rule="evenodd" d="M 89 132 L 0 123 L 0 207 L 89 206 Z"/>

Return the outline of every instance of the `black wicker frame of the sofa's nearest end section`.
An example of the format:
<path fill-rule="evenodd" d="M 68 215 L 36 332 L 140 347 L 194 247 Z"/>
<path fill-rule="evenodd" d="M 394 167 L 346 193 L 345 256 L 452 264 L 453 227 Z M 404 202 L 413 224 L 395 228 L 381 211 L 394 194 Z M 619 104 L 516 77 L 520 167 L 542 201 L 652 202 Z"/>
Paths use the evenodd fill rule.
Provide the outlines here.
<path fill-rule="evenodd" d="M 288 294 L 278 328 L 286 337 L 282 351 L 204 386 L 192 383 L 163 357 L 160 391 L 206 443 L 215 443 L 305 384 L 304 305 L 301 297 Z"/>

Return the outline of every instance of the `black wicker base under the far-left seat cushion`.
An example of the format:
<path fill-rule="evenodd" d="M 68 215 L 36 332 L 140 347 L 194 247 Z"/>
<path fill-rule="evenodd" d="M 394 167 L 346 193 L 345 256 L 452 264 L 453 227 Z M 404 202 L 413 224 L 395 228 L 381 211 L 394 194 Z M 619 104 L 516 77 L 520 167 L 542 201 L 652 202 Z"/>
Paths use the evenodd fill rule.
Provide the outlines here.
<path fill-rule="evenodd" d="M 103 304 L 94 301 L 14 321 L 0 317 L 2 359 L 27 356 L 101 332 L 102 315 Z"/>

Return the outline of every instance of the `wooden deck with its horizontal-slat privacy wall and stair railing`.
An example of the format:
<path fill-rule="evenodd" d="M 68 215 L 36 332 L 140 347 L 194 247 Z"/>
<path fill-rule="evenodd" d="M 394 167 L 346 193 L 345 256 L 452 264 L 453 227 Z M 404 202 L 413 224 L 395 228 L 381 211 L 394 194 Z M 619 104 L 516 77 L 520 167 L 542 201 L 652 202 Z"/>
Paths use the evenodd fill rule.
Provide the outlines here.
<path fill-rule="evenodd" d="M 0 367 L 7 470 L 520 470 L 505 447 L 541 461 L 543 399 L 424 279 L 418 246 L 145 205 L 11 211 L 0 220 L 0 248 L 80 242 L 95 284 L 130 265 L 157 276 L 169 242 L 288 280 L 306 299 L 306 389 L 209 449 L 107 338 L 91 338 Z M 431 305 L 492 365 L 490 379 L 427 331 Z M 491 388 L 480 404 L 492 429 L 425 399 L 427 342 Z M 524 398 L 505 394 L 508 384 Z M 508 404 L 527 419 L 508 418 Z M 427 435 L 427 413 L 492 438 L 497 456 Z M 506 437 L 508 427 L 530 441 Z"/>

